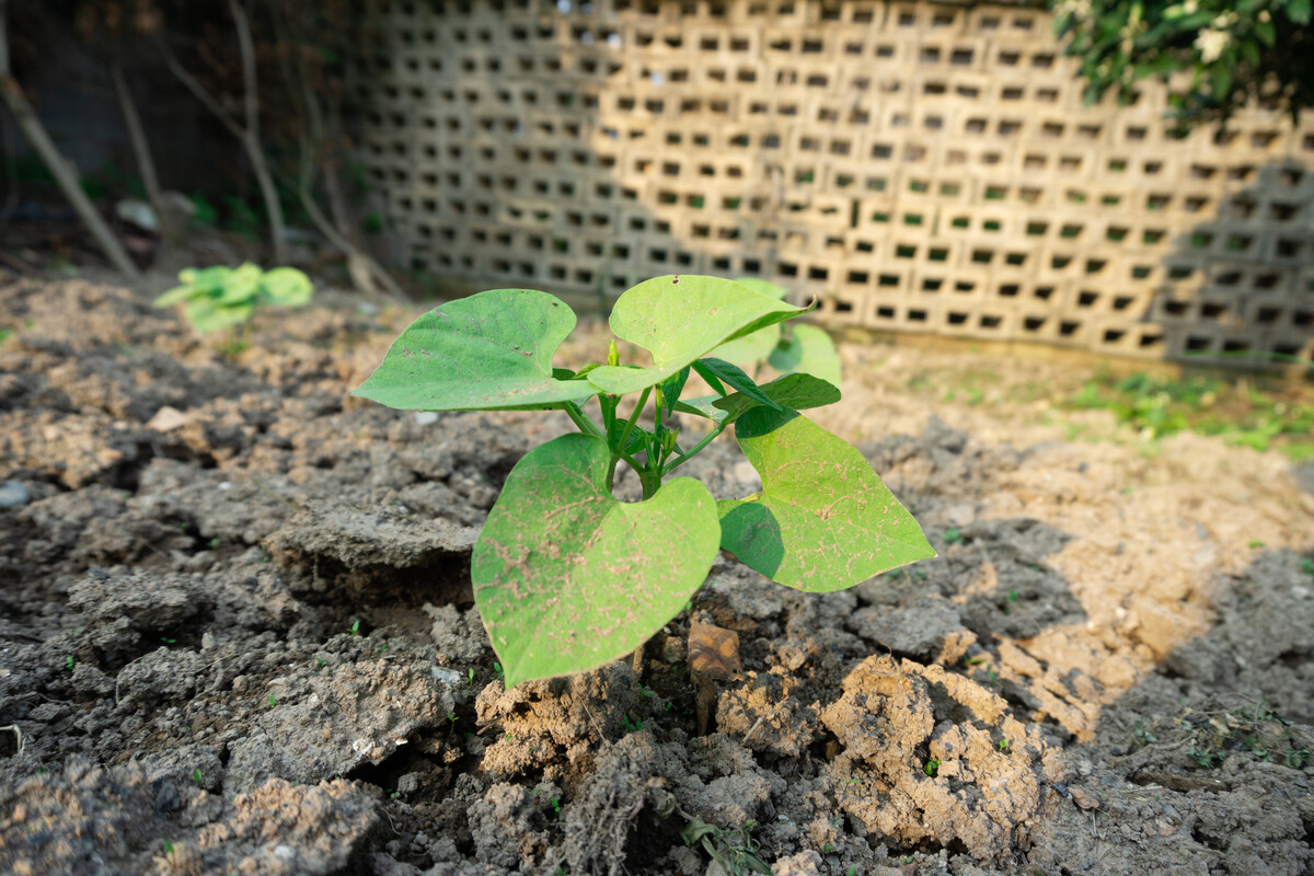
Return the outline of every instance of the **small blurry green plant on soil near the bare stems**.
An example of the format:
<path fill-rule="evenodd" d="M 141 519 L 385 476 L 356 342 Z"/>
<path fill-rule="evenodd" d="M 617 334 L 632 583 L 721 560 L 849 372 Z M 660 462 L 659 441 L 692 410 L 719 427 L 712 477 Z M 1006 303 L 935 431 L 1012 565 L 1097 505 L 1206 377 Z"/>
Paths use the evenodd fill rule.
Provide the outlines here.
<path fill-rule="evenodd" d="M 240 268 L 188 268 L 177 274 L 181 286 L 155 299 L 156 307 L 183 305 L 183 315 L 201 332 L 244 323 L 256 307 L 301 307 L 314 286 L 296 268 L 261 271 L 251 263 Z"/>

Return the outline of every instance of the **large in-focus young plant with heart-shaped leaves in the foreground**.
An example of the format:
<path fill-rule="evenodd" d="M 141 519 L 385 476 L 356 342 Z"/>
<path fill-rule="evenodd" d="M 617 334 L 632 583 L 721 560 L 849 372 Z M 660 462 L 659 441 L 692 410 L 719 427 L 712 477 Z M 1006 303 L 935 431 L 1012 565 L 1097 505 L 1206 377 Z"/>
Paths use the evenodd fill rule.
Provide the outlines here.
<path fill-rule="evenodd" d="M 612 341 L 606 364 L 572 372 L 552 365 L 576 326 L 570 309 L 543 292 L 495 289 L 417 319 L 356 389 L 401 410 L 561 410 L 579 428 L 515 465 L 474 545 L 474 602 L 509 688 L 641 646 L 720 549 L 808 592 L 936 556 L 862 454 L 799 414 L 838 401 L 833 383 L 792 373 L 759 386 L 708 356 L 803 313 L 729 280 L 657 277 L 620 296 L 610 320 L 648 364 L 620 364 Z M 691 372 L 715 394 L 682 398 Z M 600 422 L 585 414 L 593 401 Z M 652 428 L 640 422 L 649 401 Z M 706 419 L 706 433 L 682 445 L 675 412 Z M 717 502 L 700 482 L 669 477 L 732 426 L 759 493 Z M 612 495 L 622 464 L 643 500 Z"/>

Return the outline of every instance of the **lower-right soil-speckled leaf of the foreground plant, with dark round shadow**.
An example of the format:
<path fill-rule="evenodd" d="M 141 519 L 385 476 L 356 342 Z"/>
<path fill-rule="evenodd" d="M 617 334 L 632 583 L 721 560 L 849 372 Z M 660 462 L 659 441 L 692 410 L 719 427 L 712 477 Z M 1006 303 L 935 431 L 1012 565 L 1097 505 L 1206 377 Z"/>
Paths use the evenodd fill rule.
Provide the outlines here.
<path fill-rule="evenodd" d="M 936 552 L 848 441 L 794 411 L 758 407 L 735 437 L 762 491 L 717 502 L 721 546 L 771 580 L 829 592 Z"/>

